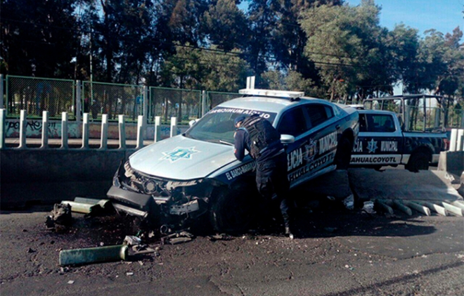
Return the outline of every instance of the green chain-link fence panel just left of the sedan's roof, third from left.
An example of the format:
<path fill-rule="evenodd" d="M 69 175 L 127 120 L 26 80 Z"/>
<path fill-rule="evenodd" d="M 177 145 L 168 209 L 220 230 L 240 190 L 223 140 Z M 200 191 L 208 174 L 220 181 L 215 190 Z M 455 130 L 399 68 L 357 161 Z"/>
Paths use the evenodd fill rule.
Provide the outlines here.
<path fill-rule="evenodd" d="M 148 122 L 154 122 L 155 116 L 160 116 L 165 123 L 177 117 L 179 124 L 200 118 L 201 91 L 150 87 Z"/>

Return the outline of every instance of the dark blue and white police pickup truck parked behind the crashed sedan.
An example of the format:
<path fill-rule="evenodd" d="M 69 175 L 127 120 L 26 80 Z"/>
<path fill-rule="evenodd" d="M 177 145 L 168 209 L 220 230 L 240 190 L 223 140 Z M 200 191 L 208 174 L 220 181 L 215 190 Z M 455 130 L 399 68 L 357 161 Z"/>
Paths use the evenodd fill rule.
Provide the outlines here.
<path fill-rule="evenodd" d="M 396 113 L 383 110 L 358 110 L 359 136 L 354 143 L 352 167 L 405 165 L 418 172 L 437 165 L 440 152 L 446 150 L 442 131 L 404 131 Z"/>

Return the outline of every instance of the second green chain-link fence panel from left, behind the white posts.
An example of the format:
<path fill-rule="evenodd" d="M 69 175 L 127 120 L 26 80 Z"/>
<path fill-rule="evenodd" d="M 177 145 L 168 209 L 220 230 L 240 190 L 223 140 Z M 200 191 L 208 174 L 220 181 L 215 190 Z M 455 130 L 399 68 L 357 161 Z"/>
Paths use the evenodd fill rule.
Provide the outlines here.
<path fill-rule="evenodd" d="M 101 120 L 102 114 L 108 114 L 109 120 L 126 115 L 128 121 L 136 121 L 143 115 L 143 86 L 83 82 L 82 110 L 90 113 L 91 120 Z"/>

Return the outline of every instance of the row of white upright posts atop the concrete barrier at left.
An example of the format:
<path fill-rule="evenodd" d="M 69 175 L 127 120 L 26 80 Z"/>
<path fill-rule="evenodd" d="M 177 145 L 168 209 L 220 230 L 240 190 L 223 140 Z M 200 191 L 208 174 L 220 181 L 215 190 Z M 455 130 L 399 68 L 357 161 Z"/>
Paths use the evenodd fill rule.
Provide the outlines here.
<path fill-rule="evenodd" d="M 118 115 L 118 135 L 119 135 L 119 148 L 120 150 L 127 149 L 126 139 L 126 115 Z M 42 112 L 42 124 L 41 124 L 41 143 L 39 149 L 46 149 L 49 147 L 49 112 Z M 68 139 L 68 114 L 67 112 L 61 113 L 61 132 L 60 132 L 60 149 L 70 149 Z M 0 109 L 0 149 L 6 149 L 6 110 Z M 18 147 L 11 149 L 27 149 L 26 133 L 27 127 L 27 112 L 26 110 L 20 110 L 19 120 L 19 145 Z M 153 142 L 160 141 L 161 135 L 161 117 L 156 116 L 154 120 L 153 135 L 148 136 L 147 133 L 148 123 L 144 115 L 138 115 L 137 127 L 136 127 L 136 150 L 143 148 L 144 139 L 153 139 Z M 176 136 L 179 134 L 179 128 L 177 124 L 177 118 L 171 117 L 169 136 Z M 89 113 L 84 113 L 82 118 L 82 146 L 80 149 L 89 149 Z M 101 137 L 100 137 L 100 150 L 108 149 L 108 115 L 101 115 Z"/>

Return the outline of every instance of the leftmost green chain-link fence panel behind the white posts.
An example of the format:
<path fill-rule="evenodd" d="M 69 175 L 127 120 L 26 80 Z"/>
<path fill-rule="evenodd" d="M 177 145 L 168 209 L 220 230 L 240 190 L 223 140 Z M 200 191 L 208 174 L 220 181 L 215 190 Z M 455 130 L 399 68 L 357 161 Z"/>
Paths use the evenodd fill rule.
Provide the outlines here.
<path fill-rule="evenodd" d="M 6 103 L 8 117 L 19 117 L 26 110 L 29 117 L 41 117 L 49 111 L 49 117 L 61 117 L 61 112 L 75 116 L 75 82 L 65 79 L 35 77 L 6 77 Z"/>

